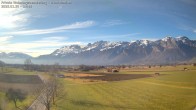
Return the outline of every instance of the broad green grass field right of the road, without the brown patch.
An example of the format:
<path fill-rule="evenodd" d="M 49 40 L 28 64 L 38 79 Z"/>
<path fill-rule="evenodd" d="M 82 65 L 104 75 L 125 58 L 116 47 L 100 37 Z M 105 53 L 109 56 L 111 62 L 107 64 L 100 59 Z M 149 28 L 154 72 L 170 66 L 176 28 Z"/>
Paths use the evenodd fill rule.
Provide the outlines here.
<path fill-rule="evenodd" d="M 153 75 L 160 71 L 164 75 L 121 81 L 92 81 L 80 77 L 60 79 L 67 95 L 59 100 L 54 109 L 193 110 L 196 106 L 196 71 L 195 67 L 187 67 L 191 69 L 188 71 L 183 71 L 183 68 L 167 66 L 122 70 L 115 74 Z M 86 74 L 92 78 L 91 73 Z"/>

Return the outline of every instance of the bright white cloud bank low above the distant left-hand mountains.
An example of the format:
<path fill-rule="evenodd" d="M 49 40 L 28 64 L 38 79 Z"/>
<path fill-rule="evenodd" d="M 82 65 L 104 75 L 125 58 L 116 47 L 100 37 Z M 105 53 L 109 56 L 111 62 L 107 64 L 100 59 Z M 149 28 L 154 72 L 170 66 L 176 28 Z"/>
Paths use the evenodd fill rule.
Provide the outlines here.
<path fill-rule="evenodd" d="M 69 42 L 66 41 L 66 37 L 47 37 L 37 41 L 31 42 L 18 42 L 11 43 L 12 37 L 0 37 L 0 42 L 7 42 L 6 45 L 1 45 L 0 50 L 3 52 L 22 52 L 31 56 L 39 56 L 44 54 L 50 54 L 54 50 L 65 45 L 83 45 L 82 42 Z"/>

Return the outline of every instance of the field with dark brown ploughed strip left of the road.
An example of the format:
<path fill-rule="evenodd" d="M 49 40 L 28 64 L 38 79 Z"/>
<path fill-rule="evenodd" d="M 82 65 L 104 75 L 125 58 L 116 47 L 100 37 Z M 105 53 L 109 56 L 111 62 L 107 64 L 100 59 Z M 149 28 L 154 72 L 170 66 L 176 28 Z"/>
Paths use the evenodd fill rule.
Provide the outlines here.
<path fill-rule="evenodd" d="M 14 103 L 6 98 L 6 91 L 10 88 L 27 94 L 25 100 L 17 102 L 20 109 L 25 110 L 35 99 L 35 91 L 42 84 L 35 72 L 28 72 L 22 69 L 8 68 L 9 71 L 0 73 L 0 109 L 14 110 Z"/>

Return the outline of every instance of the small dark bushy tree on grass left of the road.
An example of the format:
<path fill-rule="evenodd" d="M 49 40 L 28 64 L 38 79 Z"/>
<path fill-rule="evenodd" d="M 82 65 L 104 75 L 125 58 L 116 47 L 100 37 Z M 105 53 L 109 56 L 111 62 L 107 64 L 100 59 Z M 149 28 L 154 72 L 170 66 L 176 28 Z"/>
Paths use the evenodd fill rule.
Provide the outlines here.
<path fill-rule="evenodd" d="M 23 101 L 26 98 L 26 94 L 22 93 L 20 90 L 8 89 L 6 92 L 6 97 L 8 100 L 13 101 L 16 108 L 18 101 Z"/>

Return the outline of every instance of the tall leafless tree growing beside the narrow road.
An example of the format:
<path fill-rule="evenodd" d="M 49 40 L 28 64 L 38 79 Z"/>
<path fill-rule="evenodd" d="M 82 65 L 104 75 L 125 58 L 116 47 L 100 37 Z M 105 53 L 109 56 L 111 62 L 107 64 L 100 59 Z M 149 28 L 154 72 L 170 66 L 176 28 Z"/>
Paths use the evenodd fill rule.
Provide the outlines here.
<path fill-rule="evenodd" d="M 57 106 L 57 101 L 65 96 L 64 86 L 57 77 L 60 69 L 59 64 L 55 63 L 49 67 L 48 71 L 50 73 L 50 78 L 45 81 L 44 87 L 42 87 L 41 93 L 37 99 L 46 107 L 46 110 L 50 110 L 54 105 Z"/>

